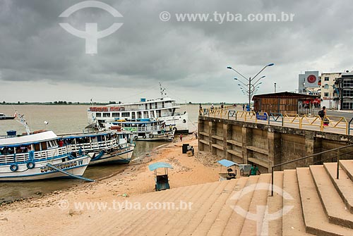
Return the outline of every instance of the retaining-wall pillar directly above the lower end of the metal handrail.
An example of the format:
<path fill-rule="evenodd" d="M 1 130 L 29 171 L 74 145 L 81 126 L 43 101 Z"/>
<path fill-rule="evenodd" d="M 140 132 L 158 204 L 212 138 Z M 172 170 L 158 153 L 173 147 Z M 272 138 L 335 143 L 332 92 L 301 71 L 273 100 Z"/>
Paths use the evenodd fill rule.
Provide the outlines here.
<path fill-rule="evenodd" d="M 272 166 L 282 163 L 281 135 L 268 129 L 268 173 L 271 172 Z M 280 169 L 278 169 L 280 170 Z"/>

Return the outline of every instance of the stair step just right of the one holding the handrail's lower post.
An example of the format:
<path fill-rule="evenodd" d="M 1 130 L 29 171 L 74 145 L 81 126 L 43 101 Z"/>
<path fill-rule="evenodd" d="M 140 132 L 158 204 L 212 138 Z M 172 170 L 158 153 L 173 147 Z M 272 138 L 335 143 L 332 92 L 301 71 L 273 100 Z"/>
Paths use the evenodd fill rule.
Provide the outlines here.
<path fill-rule="evenodd" d="M 303 211 L 301 211 L 296 170 L 283 171 L 283 191 L 287 192 L 293 198 L 283 198 L 283 206 L 293 206 L 293 208 L 289 213 L 282 216 L 282 235 L 309 235 L 306 233 Z"/>

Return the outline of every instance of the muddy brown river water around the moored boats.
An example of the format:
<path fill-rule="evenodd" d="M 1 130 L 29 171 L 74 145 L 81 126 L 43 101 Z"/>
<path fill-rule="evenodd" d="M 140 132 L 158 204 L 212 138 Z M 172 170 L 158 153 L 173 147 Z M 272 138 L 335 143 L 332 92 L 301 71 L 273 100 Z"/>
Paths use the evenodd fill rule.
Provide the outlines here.
<path fill-rule="evenodd" d="M 56 134 L 69 132 L 82 132 L 88 125 L 88 106 L 85 105 L 0 105 L 0 113 L 12 116 L 16 111 L 25 115 L 30 130 L 53 130 Z M 197 128 L 198 105 L 181 106 L 180 112 L 189 113 L 189 130 Z M 47 121 L 47 125 L 44 124 Z M 16 130 L 18 134 L 25 132 L 23 125 L 16 120 L 0 120 L 0 135 L 6 135 L 6 131 Z M 149 154 L 152 149 L 167 142 L 136 142 L 132 159 Z M 101 165 L 89 166 L 85 174 L 86 178 L 93 180 L 106 178 L 121 172 L 128 165 Z M 58 179 L 37 180 L 32 182 L 0 182 L 0 203 L 26 197 L 36 197 L 38 193 L 48 193 L 63 190 L 82 184 L 82 180 Z"/>

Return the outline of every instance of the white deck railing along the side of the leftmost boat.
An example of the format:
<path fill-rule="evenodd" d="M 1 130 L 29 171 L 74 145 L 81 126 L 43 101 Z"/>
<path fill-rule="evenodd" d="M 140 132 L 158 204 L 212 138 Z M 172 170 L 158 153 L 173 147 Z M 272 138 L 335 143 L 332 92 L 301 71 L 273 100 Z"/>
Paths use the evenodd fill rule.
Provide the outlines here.
<path fill-rule="evenodd" d="M 47 149 L 44 151 L 35 151 L 34 160 L 50 159 L 54 156 L 62 156 L 71 151 L 71 147 L 58 147 L 54 149 Z M 29 152 L 18 153 L 18 154 L 7 154 L 0 156 L 0 164 L 13 163 L 13 162 L 25 162 L 29 161 Z"/>

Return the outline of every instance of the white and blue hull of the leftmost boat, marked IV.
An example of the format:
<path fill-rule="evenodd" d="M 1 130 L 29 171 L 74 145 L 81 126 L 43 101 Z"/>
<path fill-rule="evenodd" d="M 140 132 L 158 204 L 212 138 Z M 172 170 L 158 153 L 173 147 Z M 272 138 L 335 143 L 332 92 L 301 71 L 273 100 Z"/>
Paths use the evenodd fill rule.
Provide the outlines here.
<path fill-rule="evenodd" d="M 71 178 L 70 176 L 61 173 L 47 166 L 47 163 L 65 170 L 73 175 L 82 176 L 85 169 L 90 163 L 89 156 L 81 156 L 76 159 L 56 158 L 44 161 L 35 161 L 34 168 L 28 168 L 27 163 L 17 163 L 18 170 L 10 170 L 13 164 L 0 166 L 0 181 L 25 181 L 25 180 L 44 180 L 49 178 Z"/>

